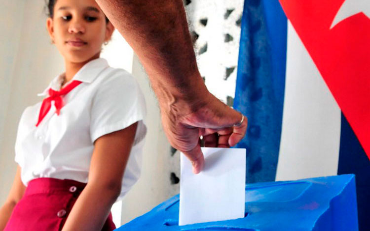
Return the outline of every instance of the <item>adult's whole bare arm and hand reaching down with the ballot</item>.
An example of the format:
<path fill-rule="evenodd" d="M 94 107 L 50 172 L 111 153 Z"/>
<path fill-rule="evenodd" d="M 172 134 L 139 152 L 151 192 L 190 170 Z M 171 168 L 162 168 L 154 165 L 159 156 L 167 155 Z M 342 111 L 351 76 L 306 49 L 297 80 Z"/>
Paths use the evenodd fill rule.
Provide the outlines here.
<path fill-rule="evenodd" d="M 162 123 L 172 146 L 199 173 L 204 157 L 199 137 L 220 147 L 245 135 L 247 119 L 212 95 L 197 68 L 182 0 L 97 0 L 134 49 L 158 97 Z"/>

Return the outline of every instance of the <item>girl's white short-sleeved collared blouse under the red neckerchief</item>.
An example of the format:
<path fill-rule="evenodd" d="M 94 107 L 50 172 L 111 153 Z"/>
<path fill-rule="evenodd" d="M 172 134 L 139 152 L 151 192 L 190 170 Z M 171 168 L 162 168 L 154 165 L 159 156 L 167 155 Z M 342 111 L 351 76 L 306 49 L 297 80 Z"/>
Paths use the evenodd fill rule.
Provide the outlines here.
<path fill-rule="evenodd" d="M 39 95 L 47 95 L 50 87 L 59 90 L 63 79 L 64 74 L 56 77 Z M 87 183 L 94 141 L 139 121 L 121 198 L 140 176 L 147 133 L 144 95 L 130 73 L 110 67 L 103 58 L 86 63 L 73 80 L 82 83 L 63 97 L 60 115 L 52 104 L 36 127 L 41 102 L 23 112 L 15 143 L 22 182 L 27 186 L 34 178 L 53 177 Z"/>

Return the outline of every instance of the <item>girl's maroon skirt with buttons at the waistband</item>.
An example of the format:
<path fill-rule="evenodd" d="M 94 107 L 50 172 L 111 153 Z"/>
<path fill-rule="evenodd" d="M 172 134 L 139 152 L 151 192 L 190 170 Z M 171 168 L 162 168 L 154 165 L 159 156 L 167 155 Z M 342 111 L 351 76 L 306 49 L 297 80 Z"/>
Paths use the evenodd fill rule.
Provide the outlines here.
<path fill-rule="evenodd" d="M 68 179 L 31 180 L 4 231 L 61 231 L 85 185 Z M 110 213 L 102 231 L 114 229 Z"/>

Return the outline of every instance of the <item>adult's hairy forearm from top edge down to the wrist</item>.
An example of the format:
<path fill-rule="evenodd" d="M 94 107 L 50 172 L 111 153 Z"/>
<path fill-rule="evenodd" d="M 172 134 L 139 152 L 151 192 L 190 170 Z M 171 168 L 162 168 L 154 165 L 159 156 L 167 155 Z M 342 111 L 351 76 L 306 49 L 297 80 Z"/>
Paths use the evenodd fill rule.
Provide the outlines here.
<path fill-rule="evenodd" d="M 160 103 L 207 91 L 182 0 L 97 2 L 140 58 Z"/>

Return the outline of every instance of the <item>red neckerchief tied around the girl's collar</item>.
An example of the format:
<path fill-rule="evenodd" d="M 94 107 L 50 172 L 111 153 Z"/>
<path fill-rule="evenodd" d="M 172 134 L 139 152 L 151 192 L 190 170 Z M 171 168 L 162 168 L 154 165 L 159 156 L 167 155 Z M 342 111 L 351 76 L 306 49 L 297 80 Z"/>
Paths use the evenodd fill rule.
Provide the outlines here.
<path fill-rule="evenodd" d="M 74 87 L 77 87 L 80 83 L 82 83 L 82 82 L 78 81 L 78 80 L 74 80 L 74 81 L 71 82 L 71 84 L 67 85 L 66 87 L 62 88 L 61 90 L 53 90 L 53 89 L 49 88 L 49 92 L 48 92 L 49 97 L 42 100 L 42 104 L 41 104 L 41 108 L 40 108 L 40 113 L 38 115 L 38 121 L 37 121 L 36 127 L 38 126 L 38 124 L 40 124 L 42 119 L 49 112 L 49 110 L 51 108 L 51 101 L 54 101 L 54 105 L 55 105 L 55 108 L 56 108 L 56 113 L 57 113 L 57 115 L 59 115 L 60 110 L 63 107 L 63 98 L 62 98 L 62 96 L 66 95 Z"/>

